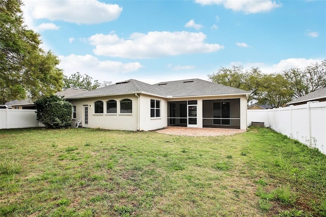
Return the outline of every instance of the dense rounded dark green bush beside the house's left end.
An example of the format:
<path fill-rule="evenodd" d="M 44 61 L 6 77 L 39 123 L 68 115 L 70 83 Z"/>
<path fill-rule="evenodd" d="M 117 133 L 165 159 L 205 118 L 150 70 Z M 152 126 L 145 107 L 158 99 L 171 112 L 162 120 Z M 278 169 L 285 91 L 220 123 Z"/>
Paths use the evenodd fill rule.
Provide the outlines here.
<path fill-rule="evenodd" d="M 70 126 L 72 104 L 57 95 L 44 96 L 35 101 L 36 119 L 46 128 Z"/>

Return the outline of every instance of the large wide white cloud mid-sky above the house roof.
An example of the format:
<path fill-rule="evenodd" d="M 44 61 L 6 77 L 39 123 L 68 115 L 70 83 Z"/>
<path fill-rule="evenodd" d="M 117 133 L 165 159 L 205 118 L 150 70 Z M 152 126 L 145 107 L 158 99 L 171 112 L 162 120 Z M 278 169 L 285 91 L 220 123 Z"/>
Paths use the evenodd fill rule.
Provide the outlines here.
<path fill-rule="evenodd" d="M 189 32 L 134 33 L 129 39 L 116 34 L 96 34 L 88 40 L 95 45 L 98 56 L 130 59 L 177 56 L 189 53 L 208 53 L 223 49 L 223 45 L 204 43 L 206 35 Z"/>

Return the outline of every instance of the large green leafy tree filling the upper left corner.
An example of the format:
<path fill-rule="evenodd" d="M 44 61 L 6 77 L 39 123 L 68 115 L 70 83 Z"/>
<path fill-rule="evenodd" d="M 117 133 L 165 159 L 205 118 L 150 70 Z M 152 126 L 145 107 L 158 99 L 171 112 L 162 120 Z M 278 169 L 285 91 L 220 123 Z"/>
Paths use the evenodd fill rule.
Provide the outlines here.
<path fill-rule="evenodd" d="M 23 25 L 21 0 L 0 2 L 0 104 L 36 99 L 62 88 L 59 59 L 40 48 L 40 35 Z"/>

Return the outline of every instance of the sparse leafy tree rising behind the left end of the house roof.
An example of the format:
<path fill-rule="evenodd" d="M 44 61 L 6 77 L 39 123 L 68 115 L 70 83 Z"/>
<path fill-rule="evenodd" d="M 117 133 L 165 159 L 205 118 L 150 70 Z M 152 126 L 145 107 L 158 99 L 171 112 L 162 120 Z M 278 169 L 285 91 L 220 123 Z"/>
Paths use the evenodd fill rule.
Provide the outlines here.
<path fill-rule="evenodd" d="M 94 80 L 94 82 L 92 82 L 92 80 L 93 78 L 89 75 L 84 74 L 82 76 L 79 72 L 76 72 L 70 77 L 64 76 L 63 88 L 80 88 L 85 90 L 94 90 L 101 87 L 101 84 L 98 82 L 98 80 Z"/>

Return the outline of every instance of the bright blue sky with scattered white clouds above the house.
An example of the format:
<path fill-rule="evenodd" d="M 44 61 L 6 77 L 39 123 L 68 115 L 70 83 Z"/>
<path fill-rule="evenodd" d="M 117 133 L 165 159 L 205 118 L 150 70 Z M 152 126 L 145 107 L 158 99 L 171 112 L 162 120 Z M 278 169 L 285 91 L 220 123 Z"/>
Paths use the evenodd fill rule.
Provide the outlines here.
<path fill-rule="evenodd" d="M 326 59 L 326 1 L 25 0 L 23 16 L 65 75 L 99 82 L 207 80 L 221 66 L 273 73 Z"/>

